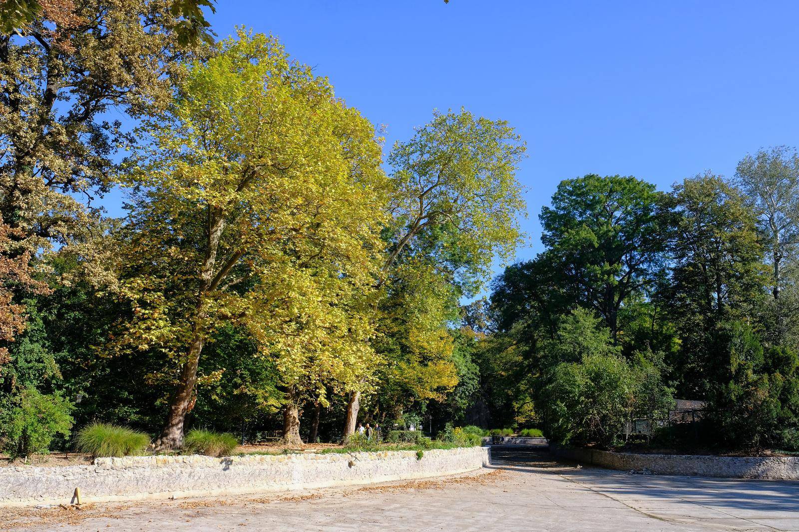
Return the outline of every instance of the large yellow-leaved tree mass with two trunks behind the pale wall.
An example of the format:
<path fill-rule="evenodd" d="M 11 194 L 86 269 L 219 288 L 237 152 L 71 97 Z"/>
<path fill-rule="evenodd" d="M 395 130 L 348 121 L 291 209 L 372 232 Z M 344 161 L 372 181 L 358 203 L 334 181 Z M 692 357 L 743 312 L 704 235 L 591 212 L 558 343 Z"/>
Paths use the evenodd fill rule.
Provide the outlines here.
<path fill-rule="evenodd" d="M 120 234 L 134 319 L 118 343 L 177 363 L 157 446 L 180 447 L 200 357 L 222 324 L 275 359 L 285 437 L 301 395 L 372 363 L 384 174 L 374 129 L 273 38 L 240 31 L 181 72 L 130 163 Z M 134 164 L 135 163 L 135 164 Z"/>

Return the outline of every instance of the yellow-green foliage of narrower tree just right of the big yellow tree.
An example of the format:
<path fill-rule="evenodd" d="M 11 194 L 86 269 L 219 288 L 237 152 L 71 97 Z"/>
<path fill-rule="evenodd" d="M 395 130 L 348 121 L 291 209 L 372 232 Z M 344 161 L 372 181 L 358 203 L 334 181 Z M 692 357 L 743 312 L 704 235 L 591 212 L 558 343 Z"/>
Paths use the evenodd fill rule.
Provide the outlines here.
<path fill-rule="evenodd" d="M 525 146 L 505 121 L 461 109 L 435 112 L 388 155 L 392 219 L 384 231 L 386 294 L 376 341 L 387 363 L 380 403 L 387 411 L 431 407 L 459 420 L 477 385 L 471 340 L 453 331 L 459 300 L 479 290 L 495 255 L 521 240 Z"/>

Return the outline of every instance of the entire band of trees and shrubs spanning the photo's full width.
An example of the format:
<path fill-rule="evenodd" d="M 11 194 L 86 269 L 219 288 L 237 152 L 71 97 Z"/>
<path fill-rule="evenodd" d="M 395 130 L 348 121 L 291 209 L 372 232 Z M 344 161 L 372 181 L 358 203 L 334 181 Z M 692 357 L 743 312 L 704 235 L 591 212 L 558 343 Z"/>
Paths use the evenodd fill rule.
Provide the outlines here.
<path fill-rule="evenodd" d="M 523 240 L 525 145 L 507 122 L 435 112 L 386 147 L 275 38 L 213 42 L 213 2 L 14 6 L 0 9 L 10 455 L 97 422 L 164 451 L 190 429 L 296 445 L 369 420 L 613 446 L 675 398 L 707 402 L 702 436 L 659 443 L 799 448 L 795 150 L 669 192 L 562 181 L 544 251 L 474 300 Z M 114 188 L 121 219 L 97 207 Z"/>

